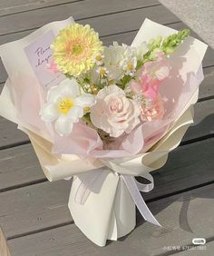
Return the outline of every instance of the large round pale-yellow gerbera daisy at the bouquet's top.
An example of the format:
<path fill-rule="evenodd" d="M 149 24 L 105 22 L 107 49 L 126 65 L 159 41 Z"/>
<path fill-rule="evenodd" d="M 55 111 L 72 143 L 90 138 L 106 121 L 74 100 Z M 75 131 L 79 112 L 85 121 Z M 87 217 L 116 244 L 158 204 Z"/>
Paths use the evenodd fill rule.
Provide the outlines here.
<path fill-rule="evenodd" d="M 56 36 L 53 59 L 63 74 L 78 76 L 86 73 L 94 64 L 94 57 L 102 53 L 102 41 L 90 25 L 74 23 Z"/>

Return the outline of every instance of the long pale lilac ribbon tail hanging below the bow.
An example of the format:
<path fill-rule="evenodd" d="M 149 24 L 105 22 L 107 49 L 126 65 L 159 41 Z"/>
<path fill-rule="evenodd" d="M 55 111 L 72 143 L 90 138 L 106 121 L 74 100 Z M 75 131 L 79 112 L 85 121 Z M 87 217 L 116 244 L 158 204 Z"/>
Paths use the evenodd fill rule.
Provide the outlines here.
<path fill-rule="evenodd" d="M 150 209 L 146 205 L 146 202 L 141 197 L 141 192 L 138 189 L 134 177 L 131 175 L 122 175 L 122 179 L 126 183 L 127 188 L 131 193 L 131 197 L 135 202 L 136 206 L 138 207 L 138 210 L 141 212 L 141 215 L 144 218 L 144 220 L 161 227 L 160 223 L 155 219 Z"/>

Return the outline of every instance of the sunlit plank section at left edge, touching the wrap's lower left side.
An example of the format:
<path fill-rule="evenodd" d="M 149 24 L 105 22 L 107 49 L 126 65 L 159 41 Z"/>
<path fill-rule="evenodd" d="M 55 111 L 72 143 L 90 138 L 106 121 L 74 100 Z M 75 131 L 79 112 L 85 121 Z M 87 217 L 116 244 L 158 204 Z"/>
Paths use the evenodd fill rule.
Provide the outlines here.
<path fill-rule="evenodd" d="M 1 151 L 0 164 L 0 192 L 46 180 L 31 144 Z"/>

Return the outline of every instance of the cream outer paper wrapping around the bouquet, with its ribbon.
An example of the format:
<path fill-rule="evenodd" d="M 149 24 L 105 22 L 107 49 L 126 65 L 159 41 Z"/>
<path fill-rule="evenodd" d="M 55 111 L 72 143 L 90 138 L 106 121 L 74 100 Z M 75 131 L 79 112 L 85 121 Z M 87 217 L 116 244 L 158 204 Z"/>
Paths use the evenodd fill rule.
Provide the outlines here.
<path fill-rule="evenodd" d="M 180 109 L 169 131 L 164 133 L 158 143 L 152 145 L 149 152 L 120 159 L 93 161 L 83 160 L 77 155 L 56 156 L 52 153 L 52 142 L 42 130 L 34 130 L 32 126 L 20 121 L 14 99 L 14 88 L 19 83 L 14 77 L 17 73 L 17 65 L 34 77 L 34 72 L 24 54 L 25 45 L 34 42 L 35 38 L 50 29 L 54 34 L 58 34 L 60 29 L 71 23 L 73 18 L 44 25 L 24 39 L 0 47 L 0 54 L 9 76 L 0 97 L 0 113 L 6 119 L 17 123 L 18 128 L 28 134 L 49 181 L 73 177 L 68 202 L 73 220 L 90 240 L 99 246 L 104 246 L 106 240 L 117 240 L 134 229 L 135 204 L 146 220 L 159 224 L 146 208 L 143 200 L 139 198 L 139 191 L 151 191 L 153 180 L 149 172 L 164 165 L 170 151 L 179 145 L 190 123 L 193 123 L 192 105 L 198 100 L 199 84 L 203 79 L 201 62 L 207 45 L 189 37 L 173 55 L 175 61 L 178 56 L 184 60 L 180 67 L 180 75 L 185 86 L 188 84 L 187 87 L 193 89 L 191 92 L 187 90 L 186 104 Z M 175 33 L 175 30 L 146 19 L 132 45 L 136 46 L 159 35 L 167 36 L 172 33 Z M 19 56 L 14 58 L 17 52 Z M 191 61 L 192 54 L 197 55 L 194 62 Z M 176 77 L 174 83 L 171 86 L 176 86 Z M 148 185 L 135 183 L 133 176 L 145 177 L 151 183 Z"/>

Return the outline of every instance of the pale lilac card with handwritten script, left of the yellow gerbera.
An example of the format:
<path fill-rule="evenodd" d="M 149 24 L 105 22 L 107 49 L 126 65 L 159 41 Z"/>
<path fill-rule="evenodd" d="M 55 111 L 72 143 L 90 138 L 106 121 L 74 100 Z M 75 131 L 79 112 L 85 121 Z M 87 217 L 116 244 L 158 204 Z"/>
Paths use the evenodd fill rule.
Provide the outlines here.
<path fill-rule="evenodd" d="M 54 37 L 53 31 L 49 31 L 24 48 L 34 74 L 44 88 L 57 85 L 64 78 L 63 74 L 53 74 L 48 69 L 48 64 L 51 64 L 53 61 L 50 45 L 53 43 Z"/>

